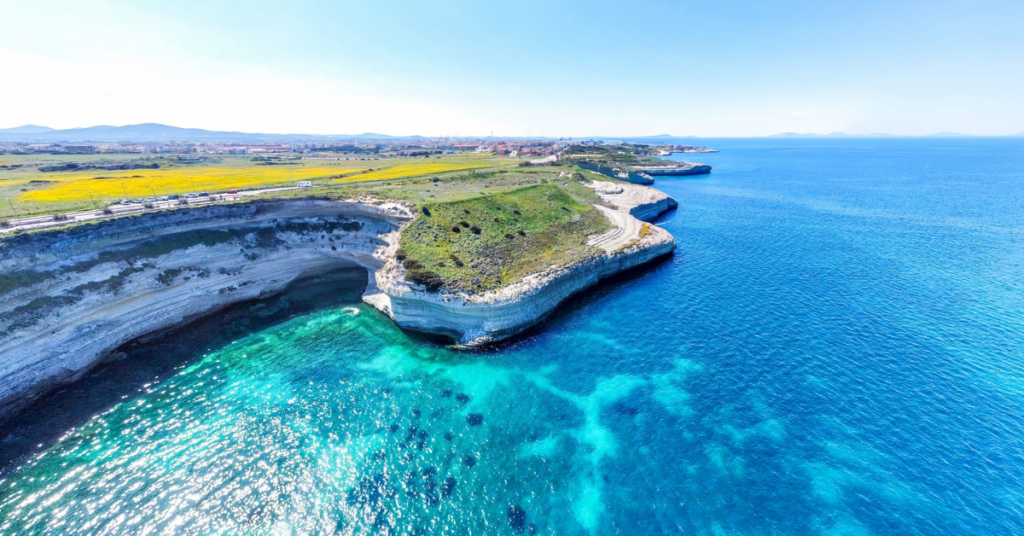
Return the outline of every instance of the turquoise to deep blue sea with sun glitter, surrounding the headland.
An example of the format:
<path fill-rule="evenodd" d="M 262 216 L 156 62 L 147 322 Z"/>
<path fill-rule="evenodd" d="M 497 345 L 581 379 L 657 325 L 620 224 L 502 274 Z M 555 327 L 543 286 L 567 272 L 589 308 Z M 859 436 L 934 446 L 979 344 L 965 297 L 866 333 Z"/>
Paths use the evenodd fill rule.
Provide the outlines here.
<path fill-rule="evenodd" d="M 498 348 L 358 274 L 129 348 L 0 534 L 1024 533 L 1024 138 L 684 142 L 676 253 Z"/>

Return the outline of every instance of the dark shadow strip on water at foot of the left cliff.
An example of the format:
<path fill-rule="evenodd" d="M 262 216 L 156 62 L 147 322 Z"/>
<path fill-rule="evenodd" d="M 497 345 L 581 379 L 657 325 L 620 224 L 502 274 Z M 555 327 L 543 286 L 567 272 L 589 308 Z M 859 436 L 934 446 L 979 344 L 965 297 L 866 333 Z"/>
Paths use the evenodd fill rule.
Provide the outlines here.
<path fill-rule="evenodd" d="M 283 292 L 229 305 L 170 330 L 126 342 L 82 379 L 62 385 L 0 423 L 0 476 L 68 430 L 145 393 L 204 354 L 318 310 L 359 303 L 364 267 L 303 276 Z"/>

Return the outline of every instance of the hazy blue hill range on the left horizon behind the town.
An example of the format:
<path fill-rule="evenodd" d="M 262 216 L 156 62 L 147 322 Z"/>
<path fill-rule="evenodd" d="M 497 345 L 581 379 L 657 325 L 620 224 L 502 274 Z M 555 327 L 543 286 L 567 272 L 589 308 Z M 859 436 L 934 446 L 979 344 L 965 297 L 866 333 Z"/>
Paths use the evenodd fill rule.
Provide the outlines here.
<path fill-rule="evenodd" d="M 152 141 L 225 141 L 241 143 L 268 143 L 288 141 L 328 141 L 357 138 L 391 138 L 386 134 L 365 133 L 357 135 L 318 134 L 260 134 L 249 132 L 222 132 L 202 128 L 180 128 L 159 123 L 126 126 L 93 126 L 54 130 L 36 125 L 0 129 L 0 141 L 32 142 L 152 142 Z M 404 139 L 420 136 L 406 136 Z"/>

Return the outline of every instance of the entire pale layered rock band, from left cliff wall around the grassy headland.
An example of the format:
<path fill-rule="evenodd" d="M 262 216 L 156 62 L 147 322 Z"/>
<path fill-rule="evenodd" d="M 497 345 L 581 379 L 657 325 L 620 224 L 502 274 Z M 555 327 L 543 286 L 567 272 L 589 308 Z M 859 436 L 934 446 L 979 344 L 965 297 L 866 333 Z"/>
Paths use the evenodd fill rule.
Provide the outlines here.
<path fill-rule="evenodd" d="M 0 242 L 0 419 L 74 381 L 132 339 L 304 275 L 362 266 L 364 299 L 406 329 L 467 345 L 535 325 L 601 278 L 675 248 L 640 219 L 675 206 L 660 192 L 594 182 L 614 229 L 592 237 L 603 254 L 551 266 L 480 295 L 429 293 L 394 259 L 413 207 L 356 199 L 257 201 L 121 217 Z"/>

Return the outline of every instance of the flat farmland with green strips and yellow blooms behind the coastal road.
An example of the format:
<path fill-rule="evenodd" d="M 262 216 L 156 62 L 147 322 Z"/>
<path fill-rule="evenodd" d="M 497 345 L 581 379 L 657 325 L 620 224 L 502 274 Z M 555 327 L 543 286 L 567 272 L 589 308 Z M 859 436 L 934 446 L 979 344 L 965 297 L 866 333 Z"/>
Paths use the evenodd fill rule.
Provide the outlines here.
<path fill-rule="evenodd" d="M 101 208 L 125 198 L 287 187 L 298 180 L 335 187 L 446 176 L 517 163 L 516 159 L 476 154 L 431 158 L 283 155 L 272 160 L 251 156 L 0 155 L 0 218 Z"/>

